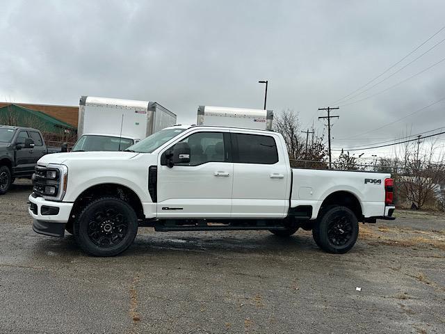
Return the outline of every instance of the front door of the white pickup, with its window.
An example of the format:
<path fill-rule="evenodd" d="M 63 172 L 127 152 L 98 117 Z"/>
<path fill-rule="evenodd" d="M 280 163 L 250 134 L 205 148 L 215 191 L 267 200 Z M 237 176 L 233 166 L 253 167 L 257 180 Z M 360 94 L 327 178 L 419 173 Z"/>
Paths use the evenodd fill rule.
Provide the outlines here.
<path fill-rule="evenodd" d="M 157 216 L 229 218 L 233 183 L 229 132 L 197 130 L 179 141 L 188 143 L 190 163 L 170 168 L 161 163 L 165 150 L 159 155 Z"/>

